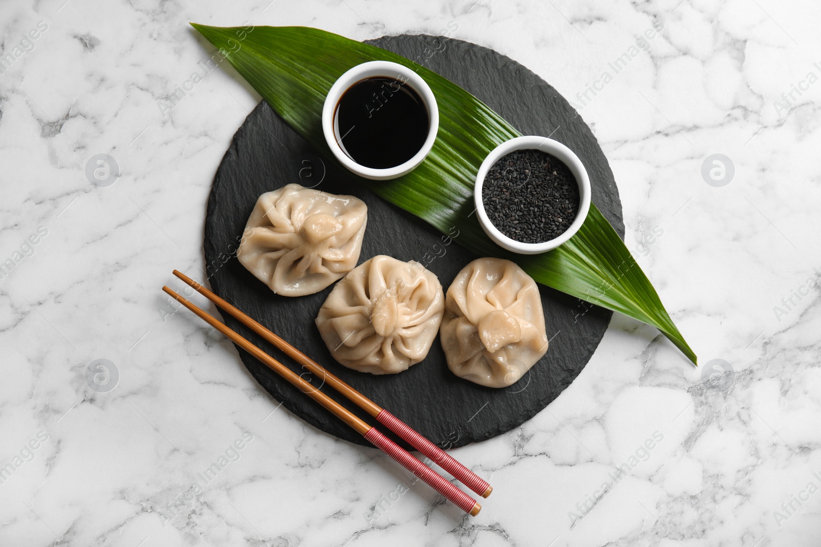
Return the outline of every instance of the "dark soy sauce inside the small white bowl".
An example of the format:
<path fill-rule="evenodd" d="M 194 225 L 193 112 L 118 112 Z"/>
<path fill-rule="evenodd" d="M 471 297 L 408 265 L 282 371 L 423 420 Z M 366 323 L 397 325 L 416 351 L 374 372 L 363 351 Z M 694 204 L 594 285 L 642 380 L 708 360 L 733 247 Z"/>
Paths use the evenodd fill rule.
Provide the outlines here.
<path fill-rule="evenodd" d="M 387 169 L 407 162 L 428 137 L 430 119 L 410 85 L 382 76 L 353 84 L 339 99 L 337 141 L 361 166 Z"/>

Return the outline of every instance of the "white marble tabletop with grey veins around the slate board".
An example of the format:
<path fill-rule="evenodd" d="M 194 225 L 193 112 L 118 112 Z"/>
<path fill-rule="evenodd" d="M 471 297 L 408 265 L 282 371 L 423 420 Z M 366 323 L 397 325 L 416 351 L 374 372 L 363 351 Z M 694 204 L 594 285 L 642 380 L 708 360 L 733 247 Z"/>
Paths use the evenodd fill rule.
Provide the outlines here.
<path fill-rule="evenodd" d="M 268 2 L 0 5 L 0 545 L 819 545 L 817 2 Z M 733 372 L 705 383 L 614 317 L 548 408 L 455 451 L 495 487 L 475 518 L 277 408 L 159 290 L 204 266 L 211 180 L 259 101 L 188 21 L 456 26 L 529 66 L 601 141 L 701 362 Z"/>

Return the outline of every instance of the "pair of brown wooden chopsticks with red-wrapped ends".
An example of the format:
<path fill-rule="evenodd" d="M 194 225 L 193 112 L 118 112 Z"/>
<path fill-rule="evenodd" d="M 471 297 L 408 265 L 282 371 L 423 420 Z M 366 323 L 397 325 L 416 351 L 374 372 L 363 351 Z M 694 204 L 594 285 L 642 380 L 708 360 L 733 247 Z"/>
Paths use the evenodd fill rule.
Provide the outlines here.
<path fill-rule="evenodd" d="M 241 310 L 235 308 L 230 303 L 227 303 L 216 294 L 213 294 L 213 292 L 206 289 L 195 280 L 190 279 L 190 277 L 186 276 L 181 271 L 174 270 L 174 275 L 184 281 L 191 288 L 202 294 L 205 298 L 217 304 L 219 308 L 222 308 L 233 317 L 236 317 L 236 319 L 241 321 L 243 325 L 250 328 L 250 330 L 254 330 L 269 343 L 273 344 L 278 349 L 281 349 L 282 352 L 288 357 L 300 363 L 300 365 L 307 368 L 316 376 L 323 378 L 325 383 L 333 387 L 334 390 L 337 390 L 340 394 L 345 395 L 348 400 L 355 403 L 359 408 L 365 410 L 365 412 L 369 413 L 370 416 L 376 418 L 378 422 L 382 423 L 384 426 L 387 426 L 389 430 L 396 433 L 401 439 L 406 440 L 408 444 L 430 458 L 433 463 L 438 464 L 439 467 L 442 467 L 445 471 L 451 473 L 452 476 L 456 477 L 458 481 L 461 481 L 461 483 L 470 488 L 470 490 L 482 495 L 484 498 L 487 498 L 491 491 L 493 491 L 493 488 L 488 485 L 487 481 L 484 481 L 481 477 L 470 471 L 470 469 L 457 462 L 443 449 L 440 449 L 436 444 L 433 444 L 424 438 L 424 436 L 420 435 L 419 432 L 412 429 L 399 418 L 393 416 L 392 413 L 389 413 L 388 410 L 380 407 L 377 403 L 374 403 L 374 401 L 368 399 L 365 395 L 351 387 L 351 385 L 346 384 L 346 382 L 340 380 L 337 376 L 331 374 L 331 372 L 328 372 L 328 370 L 326 370 L 322 365 L 305 355 L 305 353 L 300 352 L 299 349 L 296 349 L 291 344 L 288 344 L 285 340 L 282 340 L 282 338 L 259 324 L 259 322 L 247 316 L 244 312 L 241 312 Z M 406 449 L 401 448 L 401 446 L 388 439 L 387 436 L 383 435 L 383 433 L 378 431 L 378 429 L 374 426 L 370 426 L 368 423 L 361 420 L 360 417 L 355 416 L 355 414 L 351 413 L 351 411 L 347 408 L 328 397 L 328 395 L 314 388 L 314 385 L 310 384 L 310 382 L 303 380 L 300 375 L 296 374 L 296 372 L 291 371 L 290 368 L 272 358 L 268 355 L 268 353 L 264 353 L 264 351 L 256 347 L 254 344 L 251 344 L 250 341 L 245 340 L 245 338 L 241 335 L 238 335 L 225 324 L 218 321 L 214 317 L 211 317 L 208 313 L 204 312 L 204 310 L 198 308 L 195 304 L 190 303 L 172 289 L 169 289 L 167 286 L 163 286 L 163 291 L 169 294 L 173 299 L 176 299 L 177 302 L 190 309 L 191 312 L 194 312 L 195 315 L 199 316 L 200 319 L 208 323 L 210 326 L 213 326 L 223 335 L 226 335 L 232 340 L 232 342 L 239 345 L 242 349 L 245 349 L 245 351 L 253 355 L 255 358 L 259 359 L 260 362 L 263 362 L 274 372 L 277 372 L 279 376 L 282 376 L 282 378 L 289 381 L 292 385 L 295 385 L 311 399 L 314 399 L 324 408 L 327 408 L 336 417 L 340 418 L 342 422 L 345 422 L 357 433 L 364 436 L 365 439 L 371 444 L 374 444 L 374 446 L 378 449 L 381 449 L 385 454 L 388 454 L 388 456 L 400 463 L 402 467 L 405 467 L 415 476 L 418 476 L 420 479 L 428 483 L 433 490 L 436 490 L 439 494 L 452 501 L 453 504 L 456 504 L 456 506 L 461 508 L 466 513 L 470 513 L 470 515 L 474 517 L 479 513 L 482 506 L 479 505 L 475 499 L 471 498 L 470 495 L 467 495 L 465 492 L 457 488 L 450 481 L 447 481 L 447 479 L 439 475 L 438 472 L 433 471 L 433 469 L 420 462 L 418 458 L 415 458 Z"/>

